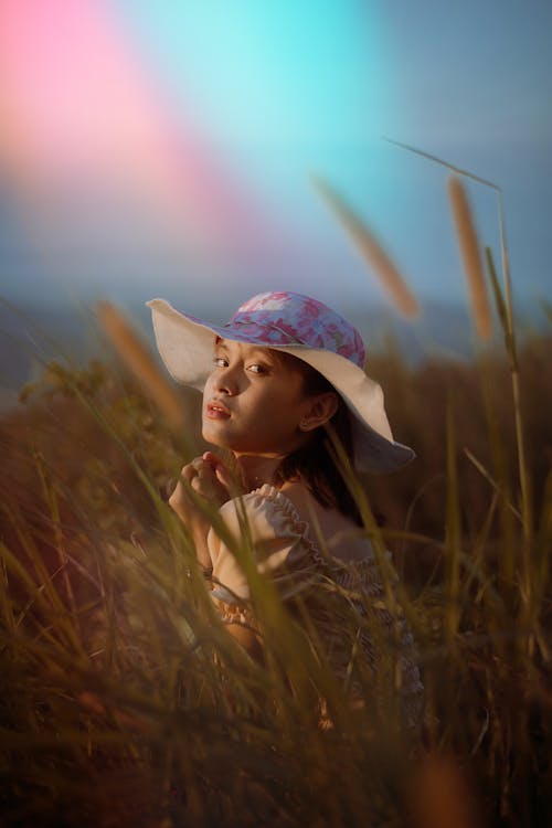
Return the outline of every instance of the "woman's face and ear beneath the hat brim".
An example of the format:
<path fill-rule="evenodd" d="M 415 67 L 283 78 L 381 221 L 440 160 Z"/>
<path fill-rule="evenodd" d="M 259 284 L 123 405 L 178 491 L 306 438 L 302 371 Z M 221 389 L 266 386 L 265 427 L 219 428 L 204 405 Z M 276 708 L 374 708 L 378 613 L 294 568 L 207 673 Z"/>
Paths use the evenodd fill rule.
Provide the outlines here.
<path fill-rule="evenodd" d="M 217 339 L 203 392 L 203 437 L 234 455 L 286 455 L 308 438 L 312 397 L 300 369 L 267 348 Z"/>

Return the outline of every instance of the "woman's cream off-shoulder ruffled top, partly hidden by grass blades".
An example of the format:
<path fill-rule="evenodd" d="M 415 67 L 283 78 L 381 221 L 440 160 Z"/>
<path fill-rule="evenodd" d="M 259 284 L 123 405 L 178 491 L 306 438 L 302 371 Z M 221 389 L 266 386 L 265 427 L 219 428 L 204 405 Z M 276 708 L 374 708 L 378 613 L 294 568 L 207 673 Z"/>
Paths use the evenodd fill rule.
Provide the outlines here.
<path fill-rule="evenodd" d="M 244 533 L 248 534 L 257 572 L 273 582 L 282 599 L 289 606 L 298 599 L 308 604 L 318 638 L 338 676 L 347 672 L 354 636 L 343 634 L 338 618 L 332 623 L 336 598 L 357 613 L 355 646 L 360 641 L 374 679 L 381 678 L 383 671 L 393 672 L 406 722 L 415 724 L 420 720 L 423 686 L 413 637 L 396 602 L 393 607 L 388 605 L 368 537 L 359 530 L 350 539 L 351 560 L 349 555 L 347 561 L 332 555 L 331 542 L 328 549 L 315 544 L 309 524 L 301 520 L 294 503 L 268 484 L 229 500 L 220 516 L 230 534 L 226 540 L 238 544 Z M 209 532 L 208 549 L 213 566 L 212 596 L 223 620 L 255 626 L 250 583 L 236 555 L 214 529 Z M 338 587 L 330 602 L 328 585 Z"/>

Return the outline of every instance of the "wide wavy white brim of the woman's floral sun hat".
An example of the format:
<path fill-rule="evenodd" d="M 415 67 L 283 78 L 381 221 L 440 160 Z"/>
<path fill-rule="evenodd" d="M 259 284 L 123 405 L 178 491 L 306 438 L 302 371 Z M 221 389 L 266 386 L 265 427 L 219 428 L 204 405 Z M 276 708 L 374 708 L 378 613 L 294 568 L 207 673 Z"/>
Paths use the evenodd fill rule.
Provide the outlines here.
<path fill-rule="evenodd" d="M 151 299 L 147 305 L 159 353 L 177 382 L 203 391 L 213 370 L 214 336 L 284 351 L 319 371 L 342 396 L 353 415 L 354 465 L 359 471 L 392 471 L 415 457 L 412 448 L 393 439 L 379 383 L 344 357 L 305 344 L 261 342 L 258 337 L 181 314 L 164 299 Z"/>

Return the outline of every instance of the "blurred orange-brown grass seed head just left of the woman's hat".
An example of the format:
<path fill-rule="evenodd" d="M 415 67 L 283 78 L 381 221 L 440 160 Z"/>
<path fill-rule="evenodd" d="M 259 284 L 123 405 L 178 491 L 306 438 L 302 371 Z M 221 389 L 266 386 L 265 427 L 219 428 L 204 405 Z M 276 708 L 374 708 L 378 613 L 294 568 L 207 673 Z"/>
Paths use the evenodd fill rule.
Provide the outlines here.
<path fill-rule="evenodd" d="M 170 426 L 180 428 L 183 420 L 181 403 L 144 342 L 110 302 L 100 301 L 97 316 L 119 355 L 159 405 Z"/>

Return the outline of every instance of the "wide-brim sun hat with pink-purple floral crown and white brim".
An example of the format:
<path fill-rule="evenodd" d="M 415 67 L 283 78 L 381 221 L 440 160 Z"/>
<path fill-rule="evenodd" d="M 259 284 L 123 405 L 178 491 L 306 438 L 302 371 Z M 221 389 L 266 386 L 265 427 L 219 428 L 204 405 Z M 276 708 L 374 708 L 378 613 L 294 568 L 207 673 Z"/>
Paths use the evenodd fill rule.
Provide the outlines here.
<path fill-rule="evenodd" d="M 364 371 L 359 331 L 317 299 L 290 291 L 258 294 L 240 306 L 225 325 L 182 314 L 164 299 L 151 299 L 159 353 L 169 373 L 203 391 L 213 371 L 214 338 L 289 353 L 319 371 L 351 414 L 352 458 L 359 471 L 392 471 L 415 456 L 393 439 L 383 391 Z"/>

